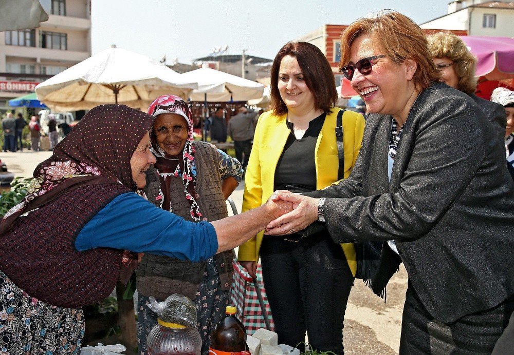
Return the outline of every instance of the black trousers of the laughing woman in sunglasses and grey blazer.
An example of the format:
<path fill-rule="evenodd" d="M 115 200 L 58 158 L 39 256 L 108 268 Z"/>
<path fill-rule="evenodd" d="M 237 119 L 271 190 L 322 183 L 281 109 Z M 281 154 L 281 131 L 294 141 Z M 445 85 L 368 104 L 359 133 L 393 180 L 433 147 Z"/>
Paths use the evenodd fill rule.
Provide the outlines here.
<path fill-rule="evenodd" d="M 401 321 L 400 355 L 490 354 L 513 309 L 511 297 L 491 309 L 465 315 L 453 323 L 441 323 L 428 313 L 409 282 Z M 512 346 L 514 340 L 510 351 Z"/>

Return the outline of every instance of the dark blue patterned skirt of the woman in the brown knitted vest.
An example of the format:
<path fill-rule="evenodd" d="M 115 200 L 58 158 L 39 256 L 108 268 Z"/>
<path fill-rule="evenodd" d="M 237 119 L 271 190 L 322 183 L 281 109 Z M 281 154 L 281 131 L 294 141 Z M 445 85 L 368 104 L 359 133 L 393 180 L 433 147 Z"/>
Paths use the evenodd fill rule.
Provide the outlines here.
<path fill-rule="evenodd" d="M 230 291 L 224 291 L 220 286 L 219 271 L 214 257 L 211 257 L 207 260 L 204 277 L 198 286 L 195 299 L 202 355 L 209 353 L 209 339 L 212 330 L 219 320 L 224 317 L 225 308 L 229 305 Z M 180 290 L 177 291 L 177 293 L 180 293 Z M 148 297 L 139 294 L 137 300 L 137 338 L 140 355 L 146 354 L 146 337 L 157 324 L 157 314 L 148 308 L 149 303 Z"/>

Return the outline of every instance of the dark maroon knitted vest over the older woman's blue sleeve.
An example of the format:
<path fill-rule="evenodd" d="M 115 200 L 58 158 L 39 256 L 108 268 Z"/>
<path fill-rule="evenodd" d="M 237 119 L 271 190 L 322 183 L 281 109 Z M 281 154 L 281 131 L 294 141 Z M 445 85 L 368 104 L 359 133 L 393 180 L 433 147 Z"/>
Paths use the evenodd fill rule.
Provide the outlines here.
<path fill-rule="evenodd" d="M 54 306 L 105 299 L 116 286 L 123 250 L 79 252 L 75 239 L 97 212 L 129 191 L 114 182 L 78 187 L 20 216 L 2 235 L 0 270 L 29 296 Z"/>

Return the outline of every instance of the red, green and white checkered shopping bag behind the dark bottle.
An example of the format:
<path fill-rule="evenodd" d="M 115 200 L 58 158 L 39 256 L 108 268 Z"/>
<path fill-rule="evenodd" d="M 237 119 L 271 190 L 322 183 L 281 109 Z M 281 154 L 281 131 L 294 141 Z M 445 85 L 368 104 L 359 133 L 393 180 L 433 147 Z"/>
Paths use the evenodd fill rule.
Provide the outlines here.
<path fill-rule="evenodd" d="M 238 264 L 235 260 L 234 266 L 234 280 L 232 281 L 232 305 L 237 308 L 237 318 L 243 322 L 246 333 L 252 335 L 255 330 L 266 328 L 264 317 L 269 320 L 271 329 L 274 330 L 273 319 L 271 318 L 271 309 L 269 308 L 268 298 L 262 282 L 261 263 L 257 264 L 257 280 L 259 289 L 261 291 L 262 299 L 264 301 L 264 313 L 259 303 L 257 292 L 253 284 L 253 279 L 246 272 L 246 270 Z M 265 314 L 265 315 L 263 315 Z"/>

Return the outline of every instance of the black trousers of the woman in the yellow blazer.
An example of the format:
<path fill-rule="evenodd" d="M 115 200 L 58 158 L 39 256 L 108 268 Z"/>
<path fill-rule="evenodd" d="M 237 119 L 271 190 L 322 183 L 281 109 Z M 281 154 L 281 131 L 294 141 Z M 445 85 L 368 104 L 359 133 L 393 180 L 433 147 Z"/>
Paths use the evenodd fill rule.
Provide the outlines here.
<path fill-rule="evenodd" d="M 325 233 L 299 243 L 265 236 L 260 254 L 279 344 L 296 347 L 307 331 L 313 348 L 343 354 L 344 312 L 354 277 L 341 246 Z"/>

